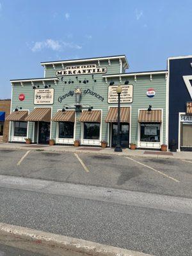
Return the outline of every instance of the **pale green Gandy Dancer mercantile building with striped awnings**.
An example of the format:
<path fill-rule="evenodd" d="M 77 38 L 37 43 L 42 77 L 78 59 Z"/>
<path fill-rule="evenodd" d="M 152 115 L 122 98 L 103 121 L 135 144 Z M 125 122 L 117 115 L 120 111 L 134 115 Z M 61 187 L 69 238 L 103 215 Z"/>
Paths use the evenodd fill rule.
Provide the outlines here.
<path fill-rule="evenodd" d="M 115 147 L 117 93 L 122 86 L 122 147 L 160 148 L 166 136 L 166 70 L 125 73 L 124 55 L 42 62 L 44 77 L 12 83 L 10 142 Z"/>

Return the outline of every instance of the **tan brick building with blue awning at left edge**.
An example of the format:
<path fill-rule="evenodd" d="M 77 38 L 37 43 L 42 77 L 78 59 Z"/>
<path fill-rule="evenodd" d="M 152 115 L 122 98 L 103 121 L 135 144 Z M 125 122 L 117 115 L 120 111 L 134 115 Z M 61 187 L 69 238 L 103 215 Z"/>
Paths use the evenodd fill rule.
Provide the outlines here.
<path fill-rule="evenodd" d="M 10 115 L 11 100 L 0 100 L 0 143 L 7 142 L 9 138 L 9 122 L 5 121 L 6 116 Z"/>

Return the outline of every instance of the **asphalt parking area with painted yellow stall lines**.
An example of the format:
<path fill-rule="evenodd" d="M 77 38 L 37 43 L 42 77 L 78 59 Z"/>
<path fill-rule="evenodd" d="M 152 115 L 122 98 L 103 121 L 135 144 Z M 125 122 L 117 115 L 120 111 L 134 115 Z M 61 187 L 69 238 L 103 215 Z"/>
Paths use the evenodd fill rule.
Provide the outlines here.
<path fill-rule="evenodd" d="M 192 197 L 192 163 L 94 153 L 0 150 L 0 174 Z"/>

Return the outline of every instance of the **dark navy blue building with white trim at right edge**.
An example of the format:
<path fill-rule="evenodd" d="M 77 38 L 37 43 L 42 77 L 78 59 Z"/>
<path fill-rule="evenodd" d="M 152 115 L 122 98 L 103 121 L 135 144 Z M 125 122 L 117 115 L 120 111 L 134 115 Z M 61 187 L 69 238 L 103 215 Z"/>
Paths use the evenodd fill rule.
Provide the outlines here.
<path fill-rule="evenodd" d="M 192 56 L 168 58 L 169 145 L 192 151 Z"/>

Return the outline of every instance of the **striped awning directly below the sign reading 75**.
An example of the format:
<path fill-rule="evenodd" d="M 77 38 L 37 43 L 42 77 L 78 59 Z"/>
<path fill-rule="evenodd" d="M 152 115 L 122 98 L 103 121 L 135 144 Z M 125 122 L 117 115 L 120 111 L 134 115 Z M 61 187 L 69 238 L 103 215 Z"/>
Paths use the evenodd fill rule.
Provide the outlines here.
<path fill-rule="evenodd" d="M 25 120 L 29 122 L 51 122 L 51 108 L 35 108 Z"/>

